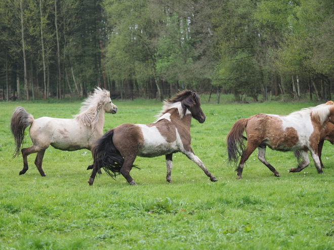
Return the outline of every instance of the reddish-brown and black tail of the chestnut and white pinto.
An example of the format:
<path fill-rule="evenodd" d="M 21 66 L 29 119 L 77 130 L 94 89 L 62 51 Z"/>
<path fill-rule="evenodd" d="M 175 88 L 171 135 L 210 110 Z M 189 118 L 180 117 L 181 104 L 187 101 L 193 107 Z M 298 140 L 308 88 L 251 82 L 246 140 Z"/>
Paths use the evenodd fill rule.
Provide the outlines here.
<path fill-rule="evenodd" d="M 242 134 L 246 128 L 247 122 L 248 119 L 237 120 L 226 137 L 229 163 L 236 163 L 245 151 L 244 140 L 247 140 L 247 138 Z"/>

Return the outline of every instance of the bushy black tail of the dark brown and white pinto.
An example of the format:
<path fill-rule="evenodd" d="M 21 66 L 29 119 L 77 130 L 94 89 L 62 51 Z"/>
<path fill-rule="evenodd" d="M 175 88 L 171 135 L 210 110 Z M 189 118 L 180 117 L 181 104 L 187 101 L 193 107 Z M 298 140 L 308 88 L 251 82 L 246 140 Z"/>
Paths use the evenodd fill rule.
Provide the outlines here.
<path fill-rule="evenodd" d="M 96 171 L 103 168 L 108 175 L 115 179 L 123 166 L 124 158 L 112 142 L 113 129 L 107 131 L 98 139 L 92 149 L 94 168 Z"/>

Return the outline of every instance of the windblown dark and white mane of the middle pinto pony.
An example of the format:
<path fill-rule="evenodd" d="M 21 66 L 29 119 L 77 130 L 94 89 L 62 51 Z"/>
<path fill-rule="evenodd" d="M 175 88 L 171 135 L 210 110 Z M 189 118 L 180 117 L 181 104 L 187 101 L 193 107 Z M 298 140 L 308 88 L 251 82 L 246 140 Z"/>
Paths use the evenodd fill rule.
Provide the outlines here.
<path fill-rule="evenodd" d="M 196 103 L 200 105 L 198 94 L 192 90 L 184 90 L 178 93 L 174 98 L 166 99 L 163 102 L 162 111 L 156 115 L 156 118 L 159 119 L 170 109 L 176 108 L 178 109 L 180 119 L 182 119 L 187 112 L 187 107 L 192 107 L 196 105 Z"/>

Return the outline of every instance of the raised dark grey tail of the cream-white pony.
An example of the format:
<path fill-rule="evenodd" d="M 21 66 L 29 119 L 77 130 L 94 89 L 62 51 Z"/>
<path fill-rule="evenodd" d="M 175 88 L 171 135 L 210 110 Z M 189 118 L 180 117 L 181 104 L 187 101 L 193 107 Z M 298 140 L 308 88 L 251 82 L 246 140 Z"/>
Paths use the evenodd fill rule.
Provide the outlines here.
<path fill-rule="evenodd" d="M 31 114 L 25 111 L 22 107 L 17 107 L 11 119 L 11 131 L 15 140 L 14 157 L 20 154 L 20 149 L 24 141 L 24 130 L 33 123 L 34 119 Z"/>

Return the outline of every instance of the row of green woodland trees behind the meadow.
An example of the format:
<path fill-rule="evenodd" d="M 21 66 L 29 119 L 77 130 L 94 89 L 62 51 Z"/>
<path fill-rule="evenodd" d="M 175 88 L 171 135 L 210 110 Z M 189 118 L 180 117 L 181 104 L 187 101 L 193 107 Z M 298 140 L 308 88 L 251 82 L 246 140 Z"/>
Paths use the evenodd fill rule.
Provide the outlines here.
<path fill-rule="evenodd" d="M 2 0 L 0 29 L 5 100 L 334 91 L 332 0 Z"/>

